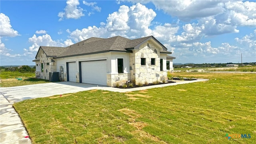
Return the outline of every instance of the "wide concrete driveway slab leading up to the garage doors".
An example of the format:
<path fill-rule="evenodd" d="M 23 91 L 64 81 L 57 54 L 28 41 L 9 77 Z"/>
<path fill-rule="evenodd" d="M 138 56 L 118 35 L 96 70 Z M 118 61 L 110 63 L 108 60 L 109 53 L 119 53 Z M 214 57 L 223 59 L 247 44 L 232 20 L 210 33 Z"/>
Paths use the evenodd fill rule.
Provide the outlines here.
<path fill-rule="evenodd" d="M 56 94 L 66 94 L 99 88 L 104 89 L 109 87 L 76 82 L 51 82 L 45 84 L 0 88 L 0 92 L 9 102 L 20 102 L 26 99 L 42 98 Z"/>

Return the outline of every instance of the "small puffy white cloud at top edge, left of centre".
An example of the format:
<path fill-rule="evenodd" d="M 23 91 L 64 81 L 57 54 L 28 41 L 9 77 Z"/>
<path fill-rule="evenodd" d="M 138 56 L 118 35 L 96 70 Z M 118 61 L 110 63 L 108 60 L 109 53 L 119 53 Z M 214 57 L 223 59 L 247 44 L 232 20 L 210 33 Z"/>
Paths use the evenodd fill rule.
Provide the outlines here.
<path fill-rule="evenodd" d="M 74 18 L 78 19 L 81 16 L 84 16 L 83 9 L 78 7 L 79 1 L 78 0 L 67 0 L 67 5 L 64 8 L 65 12 L 59 12 L 58 17 L 60 17 L 59 21 L 63 20 L 64 18 Z"/>

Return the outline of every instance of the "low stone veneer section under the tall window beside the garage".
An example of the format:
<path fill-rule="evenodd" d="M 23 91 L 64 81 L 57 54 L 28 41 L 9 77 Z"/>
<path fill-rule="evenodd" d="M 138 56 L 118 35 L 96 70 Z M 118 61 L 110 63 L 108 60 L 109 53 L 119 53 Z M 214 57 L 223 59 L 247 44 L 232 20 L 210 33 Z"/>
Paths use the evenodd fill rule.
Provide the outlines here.
<path fill-rule="evenodd" d="M 130 74 L 107 74 L 107 86 L 113 87 L 116 84 L 122 86 L 128 80 L 130 80 Z"/>

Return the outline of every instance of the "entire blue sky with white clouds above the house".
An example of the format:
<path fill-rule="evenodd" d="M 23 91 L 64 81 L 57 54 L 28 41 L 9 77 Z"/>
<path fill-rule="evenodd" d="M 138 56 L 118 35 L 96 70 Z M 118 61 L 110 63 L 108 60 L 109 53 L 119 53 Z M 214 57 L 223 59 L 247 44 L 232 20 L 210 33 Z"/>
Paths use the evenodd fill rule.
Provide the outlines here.
<path fill-rule="evenodd" d="M 151 35 L 174 63 L 256 62 L 256 1 L 0 1 L 1 66 L 35 65 L 40 46 Z"/>

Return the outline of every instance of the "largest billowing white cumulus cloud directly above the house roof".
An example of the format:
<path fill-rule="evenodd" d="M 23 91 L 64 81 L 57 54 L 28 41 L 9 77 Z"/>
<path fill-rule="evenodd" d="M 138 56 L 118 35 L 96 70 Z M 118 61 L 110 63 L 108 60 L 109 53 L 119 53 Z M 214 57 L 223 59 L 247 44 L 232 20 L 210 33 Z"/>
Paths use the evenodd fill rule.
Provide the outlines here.
<path fill-rule="evenodd" d="M 152 9 L 146 8 L 146 6 L 138 3 L 131 6 L 120 6 L 117 12 L 113 12 L 108 15 L 106 23 L 101 22 L 100 27 L 88 26 L 82 30 L 74 30 L 70 32 L 70 38 L 75 42 L 84 40 L 90 37 L 112 37 L 112 36 L 124 36 L 126 38 L 140 38 L 143 36 L 152 35 L 153 32 L 149 27 L 156 16 L 156 13 Z M 168 24 L 165 24 L 167 28 Z M 170 29 L 170 28 L 169 28 Z M 158 30 L 160 30 L 158 28 Z"/>

